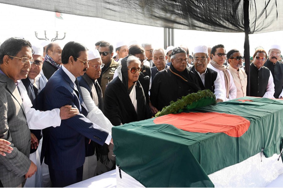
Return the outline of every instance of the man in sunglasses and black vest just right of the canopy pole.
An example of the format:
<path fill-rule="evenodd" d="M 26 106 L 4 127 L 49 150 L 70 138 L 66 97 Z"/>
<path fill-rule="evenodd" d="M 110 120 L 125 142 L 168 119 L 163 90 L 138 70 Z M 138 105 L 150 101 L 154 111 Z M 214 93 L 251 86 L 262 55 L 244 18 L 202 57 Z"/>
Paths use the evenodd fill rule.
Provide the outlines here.
<path fill-rule="evenodd" d="M 274 98 L 274 83 L 271 71 L 264 66 L 267 54 L 264 49 L 257 49 L 250 66 L 250 96 Z"/>

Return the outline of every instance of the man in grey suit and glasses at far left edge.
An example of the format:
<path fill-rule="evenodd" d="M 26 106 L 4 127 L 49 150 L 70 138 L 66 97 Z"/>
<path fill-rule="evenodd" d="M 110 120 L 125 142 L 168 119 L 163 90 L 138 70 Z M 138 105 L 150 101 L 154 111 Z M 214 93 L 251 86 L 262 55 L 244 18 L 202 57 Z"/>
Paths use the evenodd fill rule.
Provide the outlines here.
<path fill-rule="evenodd" d="M 0 155 L 0 180 L 4 187 L 21 186 L 37 170 L 29 159 L 31 132 L 26 122 L 17 80 L 26 78 L 33 63 L 31 43 L 9 38 L 0 47 L 0 138 L 11 142 L 13 152 Z"/>

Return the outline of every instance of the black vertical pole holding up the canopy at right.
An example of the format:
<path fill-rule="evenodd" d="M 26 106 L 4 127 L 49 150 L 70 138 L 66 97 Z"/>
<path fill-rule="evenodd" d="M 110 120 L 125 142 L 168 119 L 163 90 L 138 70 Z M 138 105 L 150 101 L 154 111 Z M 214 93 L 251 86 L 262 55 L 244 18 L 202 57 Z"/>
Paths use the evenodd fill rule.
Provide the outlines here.
<path fill-rule="evenodd" d="M 244 27 L 245 27 L 245 43 L 244 43 L 244 57 L 245 68 L 247 73 L 247 96 L 250 95 L 250 41 L 249 41 L 249 0 L 244 0 Z"/>

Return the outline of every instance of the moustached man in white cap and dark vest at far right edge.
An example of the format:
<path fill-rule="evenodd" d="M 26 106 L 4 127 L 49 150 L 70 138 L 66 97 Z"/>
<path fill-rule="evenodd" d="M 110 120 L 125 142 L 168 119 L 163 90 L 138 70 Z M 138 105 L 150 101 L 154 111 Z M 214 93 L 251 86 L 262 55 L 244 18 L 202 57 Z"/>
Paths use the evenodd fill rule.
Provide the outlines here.
<path fill-rule="evenodd" d="M 272 73 L 275 84 L 275 98 L 283 97 L 283 63 L 279 61 L 281 47 L 279 45 L 272 45 L 268 52 L 268 60 L 264 66 L 269 68 Z"/>

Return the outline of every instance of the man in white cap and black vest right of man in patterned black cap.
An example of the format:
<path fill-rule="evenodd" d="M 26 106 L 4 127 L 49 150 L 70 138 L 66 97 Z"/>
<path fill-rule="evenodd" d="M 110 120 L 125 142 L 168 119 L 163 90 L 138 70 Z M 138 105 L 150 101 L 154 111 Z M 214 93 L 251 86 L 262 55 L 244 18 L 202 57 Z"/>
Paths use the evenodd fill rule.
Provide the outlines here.
<path fill-rule="evenodd" d="M 225 95 L 221 87 L 221 80 L 218 73 L 210 68 L 208 65 L 208 51 L 207 46 L 201 45 L 194 48 L 194 66 L 191 67 L 197 75 L 199 86 L 202 90 L 209 89 L 214 92 L 216 102 L 223 102 Z"/>

